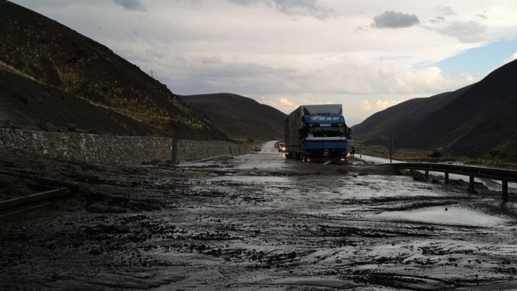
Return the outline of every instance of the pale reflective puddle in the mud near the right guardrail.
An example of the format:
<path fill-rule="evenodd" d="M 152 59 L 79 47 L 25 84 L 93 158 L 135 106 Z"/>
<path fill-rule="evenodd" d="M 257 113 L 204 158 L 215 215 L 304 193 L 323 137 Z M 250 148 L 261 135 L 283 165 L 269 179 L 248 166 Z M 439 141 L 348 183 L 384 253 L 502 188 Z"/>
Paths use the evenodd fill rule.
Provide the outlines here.
<path fill-rule="evenodd" d="M 476 210 L 459 207 L 430 207 L 411 211 L 385 211 L 373 218 L 382 220 L 411 221 L 442 225 L 465 225 L 476 227 L 504 226 L 510 223 L 505 218 L 487 215 Z"/>

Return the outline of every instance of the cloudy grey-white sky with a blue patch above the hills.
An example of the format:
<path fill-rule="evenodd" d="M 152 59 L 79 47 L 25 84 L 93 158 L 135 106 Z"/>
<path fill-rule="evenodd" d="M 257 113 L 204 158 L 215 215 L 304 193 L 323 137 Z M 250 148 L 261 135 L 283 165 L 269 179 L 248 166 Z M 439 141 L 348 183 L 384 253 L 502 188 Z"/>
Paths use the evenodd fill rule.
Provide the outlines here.
<path fill-rule="evenodd" d="M 111 48 L 179 95 L 285 113 L 343 104 L 349 126 L 517 58 L 514 0 L 14 0 Z"/>

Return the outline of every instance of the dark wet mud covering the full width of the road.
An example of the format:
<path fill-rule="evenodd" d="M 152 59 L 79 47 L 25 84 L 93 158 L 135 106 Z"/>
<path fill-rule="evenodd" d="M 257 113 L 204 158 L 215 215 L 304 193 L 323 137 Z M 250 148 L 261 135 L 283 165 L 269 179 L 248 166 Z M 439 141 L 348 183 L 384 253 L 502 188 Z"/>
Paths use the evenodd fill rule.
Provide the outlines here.
<path fill-rule="evenodd" d="M 142 166 L 0 153 L 0 290 L 516 290 L 517 208 L 278 152 Z"/>

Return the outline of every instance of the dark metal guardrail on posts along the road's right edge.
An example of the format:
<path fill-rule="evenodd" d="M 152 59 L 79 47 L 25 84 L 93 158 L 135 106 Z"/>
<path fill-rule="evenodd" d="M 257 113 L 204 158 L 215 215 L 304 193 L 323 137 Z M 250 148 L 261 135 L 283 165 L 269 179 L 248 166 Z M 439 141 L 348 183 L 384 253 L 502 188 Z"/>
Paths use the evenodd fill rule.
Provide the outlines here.
<path fill-rule="evenodd" d="M 517 183 L 517 170 L 506 170 L 498 168 L 486 168 L 471 165 L 449 165 L 441 163 L 387 163 L 396 169 L 424 170 L 426 178 L 429 178 L 429 171 L 444 173 L 445 183 L 449 183 L 449 173 L 468 175 L 469 190 L 474 191 L 474 178 L 488 178 L 501 180 L 502 196 L 504 202 L 508 202 L 508 182 Z"/>

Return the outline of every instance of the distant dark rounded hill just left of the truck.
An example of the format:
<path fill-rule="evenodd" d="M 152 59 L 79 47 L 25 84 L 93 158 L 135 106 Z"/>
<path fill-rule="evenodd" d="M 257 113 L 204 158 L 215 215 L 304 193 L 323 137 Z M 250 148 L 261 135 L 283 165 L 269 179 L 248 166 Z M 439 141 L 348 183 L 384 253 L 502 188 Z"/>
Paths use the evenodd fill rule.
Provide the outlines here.
<path fill-rule="evenodd" d="M 236 139 L 282 139 L 286 114 L 251 98 L 230 93 L 180 96 L 202 111 L 227 136 Z"/>

